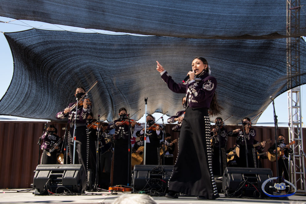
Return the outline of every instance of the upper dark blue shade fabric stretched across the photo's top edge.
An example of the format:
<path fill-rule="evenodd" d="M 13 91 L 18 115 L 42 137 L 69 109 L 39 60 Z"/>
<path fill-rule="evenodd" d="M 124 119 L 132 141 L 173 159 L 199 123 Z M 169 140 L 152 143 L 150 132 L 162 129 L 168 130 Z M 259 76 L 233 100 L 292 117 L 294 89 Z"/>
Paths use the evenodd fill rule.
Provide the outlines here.
<path fill-rule="evenodd" d="M 298 4 L 300 2 L 300 4 Z M 114 32 L 183 38 L 274 39 L 288 36 L 286 11 L 306 34 L 306 0 L 0 0 L 0 16 Z"/>

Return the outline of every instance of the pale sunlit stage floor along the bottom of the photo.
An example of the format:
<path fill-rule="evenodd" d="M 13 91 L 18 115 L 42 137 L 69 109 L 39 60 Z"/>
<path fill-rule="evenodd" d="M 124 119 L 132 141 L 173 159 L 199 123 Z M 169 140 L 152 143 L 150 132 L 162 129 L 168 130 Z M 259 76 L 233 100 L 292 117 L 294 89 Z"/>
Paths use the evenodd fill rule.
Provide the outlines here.
<path fill-rule="evenodd" d="M 23 189 L 18 189 L 23 190 Z M 109 192 L 86 192 L 85 195 L 33 195 L 32 192 L 17 192 L 17 190 L 1 189 L 0 190 L 0 203 L 99 203 L 109 204 L 114 202 L 118 196 L 124 193 L 118 193 L 118 195 L 110 195 Z M 170 199 L 165 197 L 152 197 L 155 202 L 159 204 L 193 204 L 193 203 L 298 203 L 306 204 L 306 196 L 295 194 L 287 197 L 288 200 L 273 200 L 273 199 L 259 199 L 259 198 L 225 198 L 223 194 L 220 194 L 220 198 L 216 200 L 197 200 L 196 197 L 179 196 L 178 199 Z"/>

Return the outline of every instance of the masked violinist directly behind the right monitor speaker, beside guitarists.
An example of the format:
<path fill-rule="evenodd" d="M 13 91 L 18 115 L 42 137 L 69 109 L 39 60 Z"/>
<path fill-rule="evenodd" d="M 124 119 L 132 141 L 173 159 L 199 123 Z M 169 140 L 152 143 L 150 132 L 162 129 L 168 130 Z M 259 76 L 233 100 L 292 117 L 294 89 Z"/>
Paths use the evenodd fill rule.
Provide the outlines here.
<path fill-rule="evenodd" d="M 239 148 L 239 158 L 236 162 L 239 167 L 247 167 L 246 157 L 248 158 L 248 167 L 257 168 L 258 159 L 256 150 L 254 148 L 254 137 L 256 136 L 256 131 L 251 127 L 252 123 L 250 118 L 245 117 L 243 119 L 243 128 L 236 129 L 228 132 L 229 137 L 237 137 L 236 146 Z M 245 141 L 246 139 L 246 141 Z M 245 153 L 245 143 L 247 144 L 248 153 Z M 236 147 L 236 153 L 237 153 Z"/>

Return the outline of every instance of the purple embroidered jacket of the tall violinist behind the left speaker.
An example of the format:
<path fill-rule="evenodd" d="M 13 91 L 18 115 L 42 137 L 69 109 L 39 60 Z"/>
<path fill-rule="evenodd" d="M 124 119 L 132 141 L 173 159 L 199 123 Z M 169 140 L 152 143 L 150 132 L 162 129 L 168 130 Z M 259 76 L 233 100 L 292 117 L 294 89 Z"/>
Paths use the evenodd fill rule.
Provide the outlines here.
<path fill-rule="evenodd" d="M 70 108 L 74 105 L 75 103 L 70 103 L 67 108 Z M 68 116 L 68 123 L 72 124 L 75 119 L 75 114 L 76 114 L 76 124 L 84 124 L 86 125 L 86 118 L 91 112 L 91 106 L 87 106 L 87 111 L 84 111 L 83 106 L 78 106 L 77 114 L 76 114 L 76 109 L 74 108 L 71 110 L 69 113 L 64 114 L 64 111 L 59 112 L 56 114 L 56 119 L 64 119 L 65 117 Z"/>

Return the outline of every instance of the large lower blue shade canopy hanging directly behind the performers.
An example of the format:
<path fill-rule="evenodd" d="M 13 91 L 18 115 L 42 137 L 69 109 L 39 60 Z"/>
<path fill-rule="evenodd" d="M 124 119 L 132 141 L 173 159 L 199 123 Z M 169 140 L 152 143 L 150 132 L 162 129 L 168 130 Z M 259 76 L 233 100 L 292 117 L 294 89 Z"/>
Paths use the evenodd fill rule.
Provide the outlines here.
<path fill-rule="evenodd" d="M 177 82 L 194 57 L 207 59 L 218 81 L 218 101 L 227 124 L 252 118 L 271 102 L 269 96 L 305 83 L 300 70 L 287 76 L 286 39 L 220 40 L 103 35 L 31 29 L 6 33 L 14 60 L 13 79 L 0 101 L 1 114 L 56 121 L 77 86 L 88 89 L 94 116 L 118 118 L 121 107 L 138 120 L 147 113 L 182 110 L 184 94 L 170 91 L 156 71 L 156 60 Z M 305 53 L 305 41 L 296 44 Z M 288 81 L 292 84 L 288 87 Z M 212 117 L 211 117 L 212 119 Z M 254 120 L 256 122 L 256 119 Z"/>

